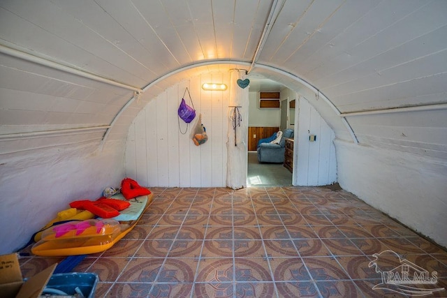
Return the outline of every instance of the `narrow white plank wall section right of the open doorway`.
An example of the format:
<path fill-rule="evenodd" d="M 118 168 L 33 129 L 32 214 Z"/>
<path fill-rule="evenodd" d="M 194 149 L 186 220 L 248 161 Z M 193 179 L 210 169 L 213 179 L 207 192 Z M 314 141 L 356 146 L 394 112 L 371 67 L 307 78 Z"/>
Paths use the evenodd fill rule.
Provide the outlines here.
<path fill-rule="evenodd" d="M 293 185 L 321 186 L 337 182 L 335 133 L 304 96 L 295 102 Z M 316 142 L 309 142 L 316 135 Z"/>

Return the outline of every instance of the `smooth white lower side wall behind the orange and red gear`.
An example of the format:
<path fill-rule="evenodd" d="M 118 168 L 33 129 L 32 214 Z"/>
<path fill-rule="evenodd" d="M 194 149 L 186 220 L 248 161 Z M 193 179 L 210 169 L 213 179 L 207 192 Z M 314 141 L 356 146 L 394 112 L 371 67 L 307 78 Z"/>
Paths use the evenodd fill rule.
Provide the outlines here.
<path fill-rule="evenodd" d="M 0 255 L 27 244 L 57 212 L 74 200 L 96 200 L 124 178 L 122 145 L 98 144 L 29 150 L 2 156 Z"/>

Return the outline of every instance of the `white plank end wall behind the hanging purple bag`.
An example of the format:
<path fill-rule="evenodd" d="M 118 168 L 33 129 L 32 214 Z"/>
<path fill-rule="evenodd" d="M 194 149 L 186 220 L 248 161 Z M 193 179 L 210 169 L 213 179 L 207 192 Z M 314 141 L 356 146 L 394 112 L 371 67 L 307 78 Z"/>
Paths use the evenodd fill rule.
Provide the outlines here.
<path fill-rule="evenodd" d="M 203 91 L 201 84 L 223 82 L 230 86 L 229 80 L 229 73 L 192 77 L 150 100 L 129 129 L 127 176 L 144 186 L 225 186 L 229 89 Z M 177 109 L 186 87 L 191 92 L 197 117 L 182 135 Z M 189 102 L 187 96 L 185 100 Z M 200 113 L 208 140 L 196 147 L 191 140 L 191 130 Z M 180 120 L 180 126 L 184 131 L 184 121 Z"/>

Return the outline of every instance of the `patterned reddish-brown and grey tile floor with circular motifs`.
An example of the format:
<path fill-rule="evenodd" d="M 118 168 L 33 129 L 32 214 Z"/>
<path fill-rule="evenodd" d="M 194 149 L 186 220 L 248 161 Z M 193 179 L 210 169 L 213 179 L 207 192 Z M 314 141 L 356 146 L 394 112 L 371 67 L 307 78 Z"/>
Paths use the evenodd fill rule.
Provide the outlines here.
<path fill-rule="evenodd" d="M 381 274 L 370 262 L 382 271 L 400 265 L 390 251 L 373 255 L 386 250 L 437 271 L 435 285 L 418 288 L 447 288 L 446 251 L 351 193 L 150 189 L 154 200 L 138 225 L 75 267 L 98 274 L 96 297 L 404 297 L 372 289 Z M 23 255 L 25 277 L 62 260 Z"/>

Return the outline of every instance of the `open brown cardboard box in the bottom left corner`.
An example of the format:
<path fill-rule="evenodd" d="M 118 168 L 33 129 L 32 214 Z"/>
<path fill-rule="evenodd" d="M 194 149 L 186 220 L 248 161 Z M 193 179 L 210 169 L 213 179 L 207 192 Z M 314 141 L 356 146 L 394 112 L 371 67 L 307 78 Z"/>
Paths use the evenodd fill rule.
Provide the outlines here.
<path fill-rule="evenodd" d="M 0 293 L 5 298 L 37 298 L 50 280 L 57 264 L 23 281 L 17 253 L 0 255 Z"/>

